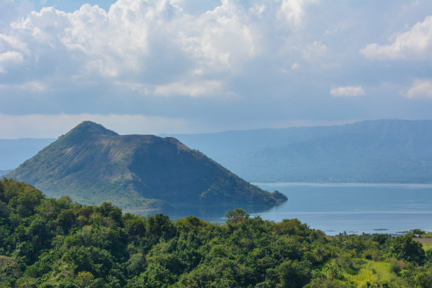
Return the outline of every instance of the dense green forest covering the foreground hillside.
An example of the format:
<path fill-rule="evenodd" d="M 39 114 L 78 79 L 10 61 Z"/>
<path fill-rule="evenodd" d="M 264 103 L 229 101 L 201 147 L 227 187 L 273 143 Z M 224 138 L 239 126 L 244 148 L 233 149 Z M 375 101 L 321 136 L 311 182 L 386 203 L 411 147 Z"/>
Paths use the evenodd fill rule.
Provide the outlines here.
<path fill-rule="evenodd" d="M 3 179 L 0 287 L 432 287 L 432 249 L 413 234 L 330 237 L 296 219 L 226 215 L 143 217 Z"/>

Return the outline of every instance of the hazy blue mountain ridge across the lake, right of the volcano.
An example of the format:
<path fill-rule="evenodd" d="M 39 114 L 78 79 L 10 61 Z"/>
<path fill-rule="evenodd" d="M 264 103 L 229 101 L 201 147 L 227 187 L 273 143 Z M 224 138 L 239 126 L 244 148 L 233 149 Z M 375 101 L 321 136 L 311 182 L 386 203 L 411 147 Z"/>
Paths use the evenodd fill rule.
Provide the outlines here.
<path fill-rule="evenodd" d="M 172 135 L 248 181 L 432 182 L 432 121 Z"/>

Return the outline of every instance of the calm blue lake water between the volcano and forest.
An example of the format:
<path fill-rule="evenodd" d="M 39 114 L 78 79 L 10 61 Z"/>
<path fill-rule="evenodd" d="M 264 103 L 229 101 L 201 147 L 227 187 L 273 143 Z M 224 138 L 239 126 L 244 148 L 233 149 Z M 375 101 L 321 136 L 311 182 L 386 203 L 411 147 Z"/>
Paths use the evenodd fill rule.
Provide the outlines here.
<path fill-rule="evenodd" d="M 300 184 L 256 183 L 280 191 L 288 201 L 272 208 L 244 205 L 253 217 L 275 222 L 298 218 L 326 234 L 390 233 L 409 229 L 432 231 L 432 184 Z M 224 222 L 224 213 L 236 206 L 179 206 L 162 211 L 176 219 L 195 215 Z"/>

